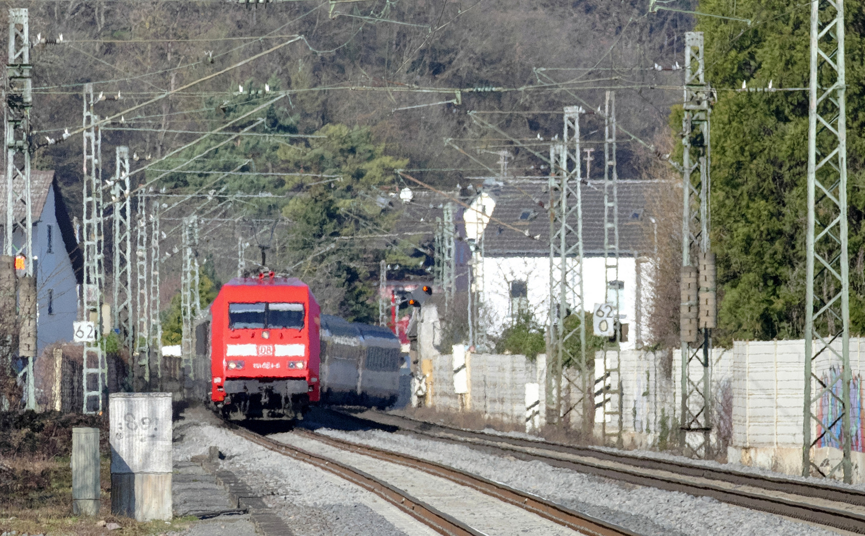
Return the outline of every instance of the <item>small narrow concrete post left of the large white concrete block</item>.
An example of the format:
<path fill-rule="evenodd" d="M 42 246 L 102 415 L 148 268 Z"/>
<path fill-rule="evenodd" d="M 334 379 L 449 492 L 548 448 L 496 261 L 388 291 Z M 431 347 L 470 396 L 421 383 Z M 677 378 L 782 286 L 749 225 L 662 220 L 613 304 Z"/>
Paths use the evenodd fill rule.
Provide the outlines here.
<path fill-rule="evenodd" d="M 72 429 L 72 513 L 99 514 L 99 428 Z"/>

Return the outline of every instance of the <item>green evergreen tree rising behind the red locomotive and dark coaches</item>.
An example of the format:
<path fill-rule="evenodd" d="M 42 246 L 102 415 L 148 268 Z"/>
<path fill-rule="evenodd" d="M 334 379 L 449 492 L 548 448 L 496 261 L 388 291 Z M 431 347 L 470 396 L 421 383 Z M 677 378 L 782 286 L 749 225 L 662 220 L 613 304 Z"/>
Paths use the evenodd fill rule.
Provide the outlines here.
<path fill-rule="evenodd" d="M 282 165 L 319 175 L 286 179 L 292 192 L 282 209 L 292 225 L 286 237 L 289 271 L 311 284 L 324 311 L 374 322 L 370 272 L 388 253 L 355 237 L 393 227 L 396 213 L 382 188 L 393 189 L 394 169 L 404 168 L 407 160 L 386 155 L 365 127 L 329 124 L 317 135 L 304 146 L 283 145 L 277 152 Z M 405 257 L 399 249 L 390 255 L 394 262 Z"/>

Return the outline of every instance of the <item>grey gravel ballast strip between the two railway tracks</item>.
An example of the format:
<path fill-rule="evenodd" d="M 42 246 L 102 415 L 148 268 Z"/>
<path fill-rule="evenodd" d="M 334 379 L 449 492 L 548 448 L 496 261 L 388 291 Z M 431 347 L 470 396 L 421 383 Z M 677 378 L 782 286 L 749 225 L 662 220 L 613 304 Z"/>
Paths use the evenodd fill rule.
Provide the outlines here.
<path fill-rule="evenodd" d="M 634 486 L 538 461 L 497 456 L 465 445 L 384 431 L 319 433 L 443 463 L 512 488 L 540 495 L 579 512 L 646 536 L 823 536 L 828 529 L 735 507 L 708 497 Z"/>

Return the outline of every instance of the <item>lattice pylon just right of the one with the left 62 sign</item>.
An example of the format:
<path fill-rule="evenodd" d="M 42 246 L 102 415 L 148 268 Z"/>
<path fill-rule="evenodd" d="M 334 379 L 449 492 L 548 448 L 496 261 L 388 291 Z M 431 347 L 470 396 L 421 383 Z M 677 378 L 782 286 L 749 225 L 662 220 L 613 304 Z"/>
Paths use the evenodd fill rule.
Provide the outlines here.
<path fill-rule="evenodd" d="M 129 148 L 116 147 L 115 171 L 112 177 L 112 241 L 114 262 L 112 265 L 112 294 L 114 309 L 112 325 L 117 330 L 121 348 L 129 352 L 132 362 L 132 203 L 129 189 Z M 130 367 L 130 379 L 133 375 Z"/>

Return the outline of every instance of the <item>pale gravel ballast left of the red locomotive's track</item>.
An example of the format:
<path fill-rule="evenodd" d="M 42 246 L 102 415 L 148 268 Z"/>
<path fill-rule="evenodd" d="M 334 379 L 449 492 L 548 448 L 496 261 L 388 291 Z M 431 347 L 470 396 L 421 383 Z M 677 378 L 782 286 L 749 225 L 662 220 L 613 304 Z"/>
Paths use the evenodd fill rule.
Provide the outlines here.
<path fill-rule="evenodd" d="M 174 458 L 189 458 L 219 447 L 221 467 L 232 471 L 293 533 L 330 536 L 435 536 L 432 529 L 374 494 L 309 464 L 266 450 L 234 435 L 207 418 L 176 426 Z"/>

